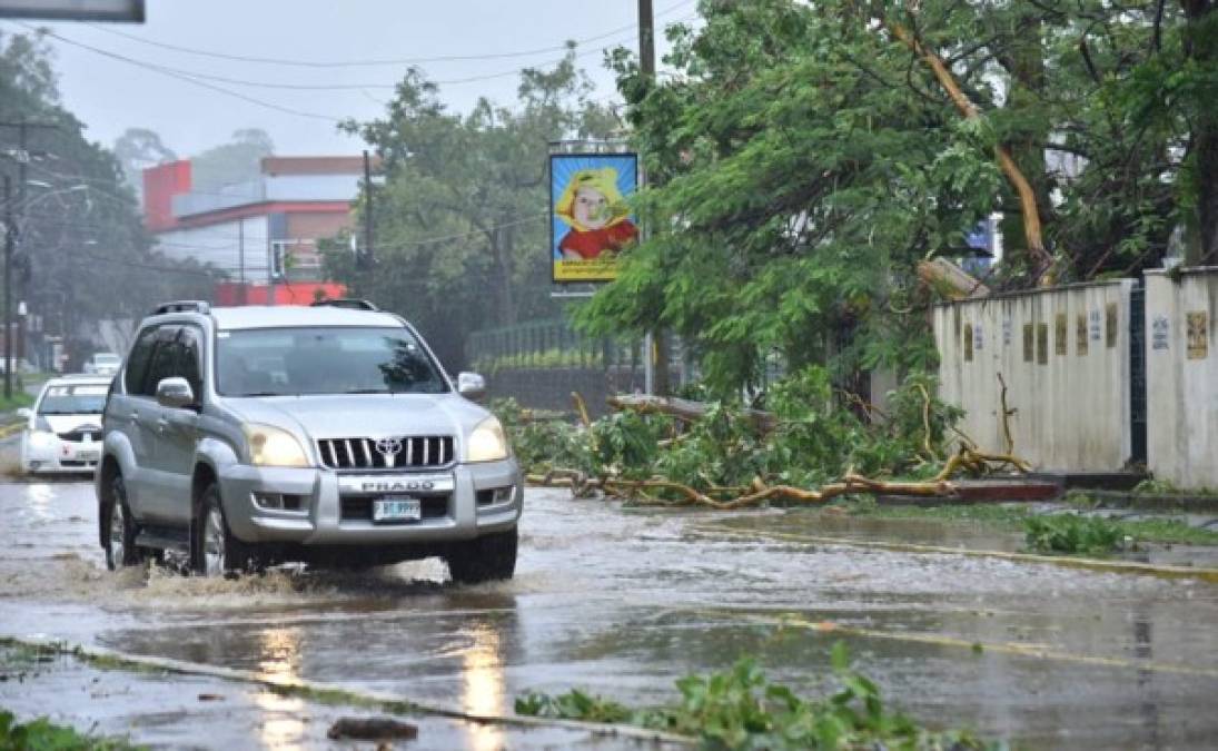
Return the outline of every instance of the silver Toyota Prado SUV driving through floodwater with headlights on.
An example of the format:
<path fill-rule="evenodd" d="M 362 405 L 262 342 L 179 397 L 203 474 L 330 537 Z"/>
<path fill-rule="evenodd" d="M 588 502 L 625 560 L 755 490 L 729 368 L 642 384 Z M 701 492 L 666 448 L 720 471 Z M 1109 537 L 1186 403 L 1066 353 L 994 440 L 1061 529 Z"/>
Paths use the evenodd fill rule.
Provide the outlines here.
<path fill-rule="evenodd" d="M 206 575 L 284 561 L 441 556 L 510 578 L 524 499 L 499 422 L 419 334 L 364 301 L 160 306 L 102 418 L 96 491 L 111 568 L 175 549 Z"/>

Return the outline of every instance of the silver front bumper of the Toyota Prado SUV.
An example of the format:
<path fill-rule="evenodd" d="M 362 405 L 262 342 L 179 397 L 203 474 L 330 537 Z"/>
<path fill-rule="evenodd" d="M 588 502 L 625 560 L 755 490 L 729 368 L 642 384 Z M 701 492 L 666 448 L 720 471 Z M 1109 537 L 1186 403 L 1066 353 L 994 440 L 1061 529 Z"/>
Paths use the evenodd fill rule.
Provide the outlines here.
<path fill-rule="evenodd" d="M 420 482 L 428 478 L 431 489 Z M 219 473 L 219 485 L 229 528 L 246 543 L 320 546 L 469 540 L 512 529 L 524 504 L 524 478 L 515 460 L 390 473 L 230 464 Z M 493 497 L 495 490 L 501 490 L 499 499 Z M 267 494 L 290 497 L 300 510 L 267 508 L 255 501 Z M 426 497 L 429 510 L 419 521 L 380 524 L 361 514 L 373 499 L 414 494 Z"/>

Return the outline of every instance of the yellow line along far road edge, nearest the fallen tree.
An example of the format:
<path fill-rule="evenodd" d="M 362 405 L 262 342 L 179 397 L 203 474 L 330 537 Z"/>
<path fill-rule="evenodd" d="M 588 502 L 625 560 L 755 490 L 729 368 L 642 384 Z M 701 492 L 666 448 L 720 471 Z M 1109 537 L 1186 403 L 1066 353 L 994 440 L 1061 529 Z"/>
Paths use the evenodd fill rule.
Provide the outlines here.
<path fill-rule="evenodd" d="M 890 552 L 915 552 L 929 555 L 965 556 L 970 558 L 996 558 L 1017 563 L 1049 563 L 1063 568 L 1082 568 L 1118 574 L 1144 574 L 1163 579 L 1200 579 L 1218 584 L 1218 568 L 1196 568 L 1192 566 L 1168 566 L 1163 563 L 1138 563 L 1136 561 L 1104 561 L 1099 558 L 1074 558 L 1069 556 L 1040 556 L 1030 552 L 1006 552 L 1001 550 L 970 550 L 967 547 L 944 547 L 940 545 L 915 545 L 912 543 L 885 543 L 882 540 L 850 540 L 844 538 L 822 538 L 769 529 L 737 530 L 719 524 L 691 524 L 688 529 L 728 538 L 749 540 L 771 539 L 789 543 L 808 543 L 811 545 L 840 545 L 844 547 L 866 547 Z"/>

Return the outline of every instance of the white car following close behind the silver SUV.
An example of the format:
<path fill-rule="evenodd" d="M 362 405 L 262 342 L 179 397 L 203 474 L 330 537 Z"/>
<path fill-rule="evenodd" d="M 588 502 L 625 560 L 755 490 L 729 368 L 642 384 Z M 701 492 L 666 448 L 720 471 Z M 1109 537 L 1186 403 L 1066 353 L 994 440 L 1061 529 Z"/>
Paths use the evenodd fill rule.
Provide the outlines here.
<path fill-rule="evenodd" d="M 101 413 L 107 376 L 66 376 L 43 386 L 21 436 L 21 467 L 30 474 L 91 473 L 101 458 Z"/>

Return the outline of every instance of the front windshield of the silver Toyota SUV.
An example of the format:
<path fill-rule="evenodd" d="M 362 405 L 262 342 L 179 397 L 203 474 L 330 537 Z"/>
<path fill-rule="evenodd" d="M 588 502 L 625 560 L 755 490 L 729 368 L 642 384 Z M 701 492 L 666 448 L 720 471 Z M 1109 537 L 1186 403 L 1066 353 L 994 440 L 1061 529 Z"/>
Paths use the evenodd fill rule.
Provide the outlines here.
<path fill-rule="evenodd" d="M 224 396 L 440 394 L 448 384 L 404 328 L 275 328 L 216 334 Z"/>

